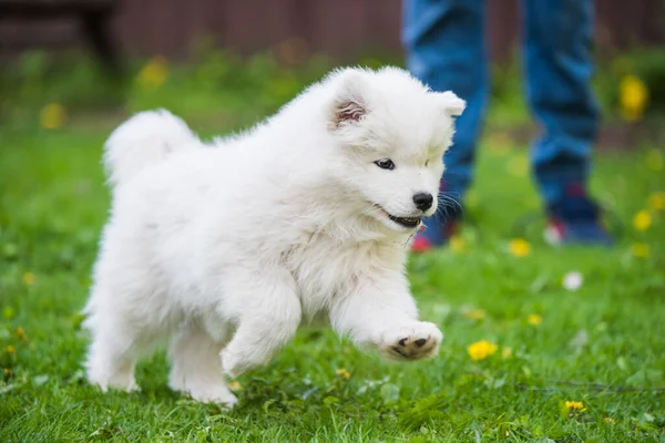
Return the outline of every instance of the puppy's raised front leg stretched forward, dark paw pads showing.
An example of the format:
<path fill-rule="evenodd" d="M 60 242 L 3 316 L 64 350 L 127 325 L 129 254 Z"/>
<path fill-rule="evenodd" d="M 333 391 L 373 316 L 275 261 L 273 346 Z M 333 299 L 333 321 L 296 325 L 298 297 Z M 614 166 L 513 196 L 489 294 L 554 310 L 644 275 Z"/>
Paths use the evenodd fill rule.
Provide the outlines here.
<path fill-rule="evenodd" d="M 434 357 L 443 334 L 419 321 L 418 310 L 401 275 L 360 284 L 330 310 L 330 322 L 359 347 L 374 347 L 395 360 Z"/>

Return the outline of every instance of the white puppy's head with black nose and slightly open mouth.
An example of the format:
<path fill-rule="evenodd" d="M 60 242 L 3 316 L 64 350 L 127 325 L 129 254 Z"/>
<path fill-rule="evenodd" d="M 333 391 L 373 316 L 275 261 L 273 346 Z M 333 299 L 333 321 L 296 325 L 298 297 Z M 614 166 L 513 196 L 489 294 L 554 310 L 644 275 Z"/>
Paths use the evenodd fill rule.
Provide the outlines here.
<path fill-rule="evenodd" d="M 344 151 L 345 195 L 392 230 L 417 229 L 437 210 L 443 153 L 464 101 L 396 68 L 347 69 L 329 82 L 328 131 Z"/>

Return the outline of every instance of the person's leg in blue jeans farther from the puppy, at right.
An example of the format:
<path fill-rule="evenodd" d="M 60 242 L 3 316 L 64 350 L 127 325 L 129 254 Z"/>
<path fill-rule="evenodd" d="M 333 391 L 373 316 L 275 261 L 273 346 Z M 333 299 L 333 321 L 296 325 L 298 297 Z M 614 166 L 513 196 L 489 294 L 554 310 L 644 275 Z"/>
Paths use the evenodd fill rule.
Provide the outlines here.
<path fill-rule="evenodd" d="M 591 90 L 593 0 L 523 0 L 523 6 L 526 95 L 542 126 L 532 146 L 535 181 L 557 229 L 567 229 L 560 237 L 584 241 L 571 230 L 581 220 L 593 237 L 587 240 L 605 243 L 585 190 L 598 123 Z"/>

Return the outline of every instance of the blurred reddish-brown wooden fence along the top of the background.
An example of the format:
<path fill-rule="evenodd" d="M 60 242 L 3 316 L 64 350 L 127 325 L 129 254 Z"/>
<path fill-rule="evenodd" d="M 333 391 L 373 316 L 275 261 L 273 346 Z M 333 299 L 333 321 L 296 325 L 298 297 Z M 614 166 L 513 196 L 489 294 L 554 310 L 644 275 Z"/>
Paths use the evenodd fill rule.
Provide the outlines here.
<path fill-rule="evenodd" d="M 519 0 L 485 0 L 488 44 L 505 60 L 519 38 Z M 296 39 L 309 52 L 349 60 L 359 53 L 401 51 L 401 0 L 120 0 L 113 33 L 126 54 L 186 59 L 203 38 L 239 53 Z M 0 20 L 0 52 L 80 44 L 73 20 Z M 664 0 L 596 0 L 601 50 L 665 42 Z"/>

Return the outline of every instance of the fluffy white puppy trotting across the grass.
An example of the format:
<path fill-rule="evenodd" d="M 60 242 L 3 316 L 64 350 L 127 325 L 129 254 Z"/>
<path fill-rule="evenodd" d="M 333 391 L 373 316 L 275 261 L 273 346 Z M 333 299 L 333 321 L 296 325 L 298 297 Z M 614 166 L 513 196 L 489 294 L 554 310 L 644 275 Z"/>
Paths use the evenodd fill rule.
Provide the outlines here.
<path fill-rule="evenodd" d="M 211 145 L 164 111 L 122 124 L 105 145 L 90 381 L 136 389 L 136 359 L 170 340 L 171 388 L 232 405 L 224 372 L 268 363 L 319 319 L 390 358 L 434 356 L 405 261 L 463 107 L 403 70 L 345 69 Z"/>

